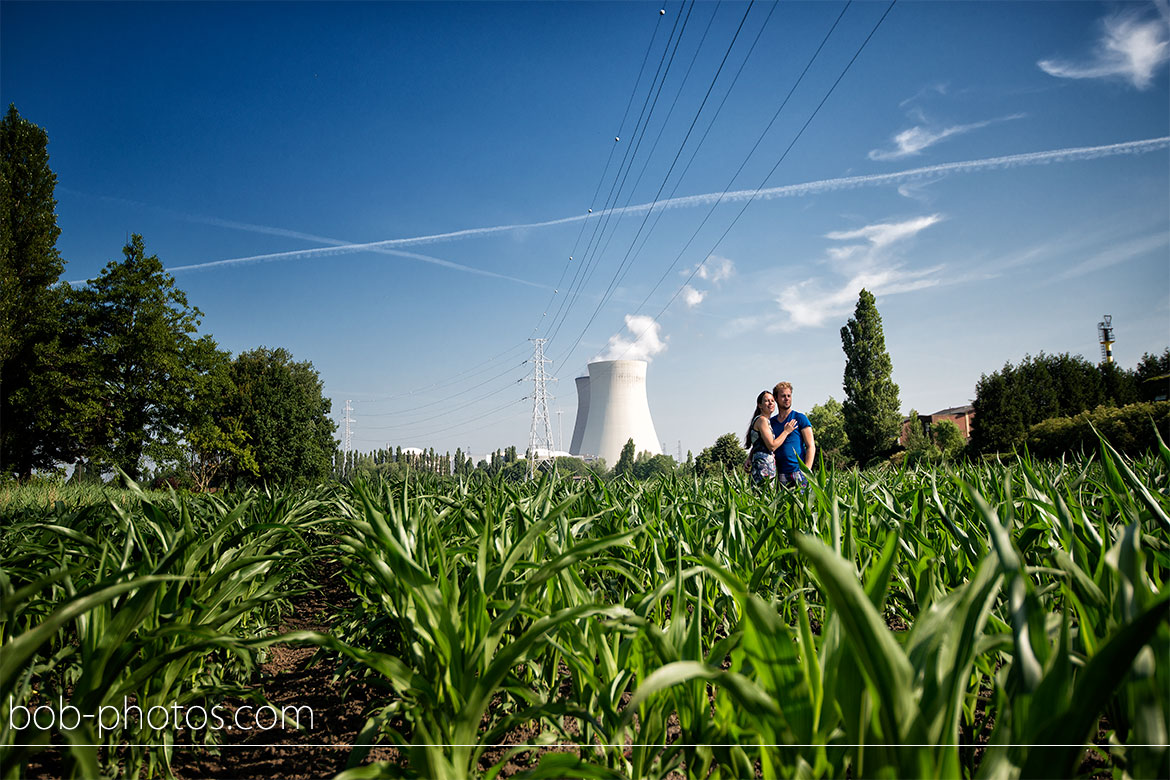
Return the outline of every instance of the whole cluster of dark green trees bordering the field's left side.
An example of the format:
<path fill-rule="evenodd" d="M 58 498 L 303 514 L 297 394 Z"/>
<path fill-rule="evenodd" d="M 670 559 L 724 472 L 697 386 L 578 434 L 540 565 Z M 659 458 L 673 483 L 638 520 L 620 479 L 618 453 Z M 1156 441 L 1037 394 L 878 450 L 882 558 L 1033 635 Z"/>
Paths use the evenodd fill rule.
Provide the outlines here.
<path fill-rule="evenodd" d="M 335 424 L 309 363 L 234 359 L 133 235 L 83 285 L 61 282 L 48 134 L 0 122 L 0 472 L 74 465 L 208 488 L 329 475 Z"/>

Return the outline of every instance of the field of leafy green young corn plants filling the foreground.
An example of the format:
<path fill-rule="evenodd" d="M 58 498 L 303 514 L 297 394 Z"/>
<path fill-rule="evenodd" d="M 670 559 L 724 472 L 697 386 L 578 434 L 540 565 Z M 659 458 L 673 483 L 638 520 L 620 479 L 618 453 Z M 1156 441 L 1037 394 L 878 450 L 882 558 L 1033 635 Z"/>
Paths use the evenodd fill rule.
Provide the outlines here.
<path fill-rule="evenodd" d="M 384 691 L 343 779 L 1170 776 L 1170 449 L 810 482 L 6 501 L 0 773 L 170 776 L 11 703 L 259 700 L 281 642 Z M 321 561 L 336 629 L 277 633 Z"/>

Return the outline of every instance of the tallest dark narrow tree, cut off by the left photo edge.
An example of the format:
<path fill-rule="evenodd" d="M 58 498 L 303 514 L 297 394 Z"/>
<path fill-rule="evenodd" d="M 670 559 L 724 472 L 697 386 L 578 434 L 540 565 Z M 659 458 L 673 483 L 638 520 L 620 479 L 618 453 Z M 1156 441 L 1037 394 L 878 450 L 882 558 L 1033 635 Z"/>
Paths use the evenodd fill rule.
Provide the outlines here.
<path fill-rule="evenodd" d="M 68 449 L 53 424 L 61 394 L 53 385 L 33 388 L 67 361 L 58 339 L 57 177 L 48 146 L 48 133 L 9 105 L 0 120 L 0 467 L 21 476 L 51 467 Z"/>

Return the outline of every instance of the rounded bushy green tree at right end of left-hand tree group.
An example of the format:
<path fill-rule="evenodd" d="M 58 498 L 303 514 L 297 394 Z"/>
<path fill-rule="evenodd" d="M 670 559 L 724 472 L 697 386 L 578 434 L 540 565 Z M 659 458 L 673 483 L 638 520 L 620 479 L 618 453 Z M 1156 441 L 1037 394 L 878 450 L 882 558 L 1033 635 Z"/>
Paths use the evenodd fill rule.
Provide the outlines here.
<path fill-rule="evenodd" d="M 294 361 L 283 348 L 260 347 L 236 357 L 232 380 L 236 396 L 229 408 L 248 434 L 259 477 L 277 484 L 326 478 L 337 426 L 312 364 Z"/>

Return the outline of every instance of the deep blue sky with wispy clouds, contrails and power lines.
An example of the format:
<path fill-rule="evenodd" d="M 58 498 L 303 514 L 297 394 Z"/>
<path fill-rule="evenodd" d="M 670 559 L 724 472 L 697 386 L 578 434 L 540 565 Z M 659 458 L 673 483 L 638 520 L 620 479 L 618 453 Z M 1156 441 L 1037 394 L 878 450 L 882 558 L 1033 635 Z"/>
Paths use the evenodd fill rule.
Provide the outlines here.
<path fill-rule="evenodd" d="M 1095 361 L 1106 313 L 1161 352 L 1166 4 L 887 9 L 6 1 L 0 98 L 49 133 L 66 279 L 140 233 L 359 450 L 523 450 L 544 337 L 558 441 L 589 360 L 645 357 L 697 454 L 777 380 L 841 400 L 861 287 L 903 412 Z"/>

